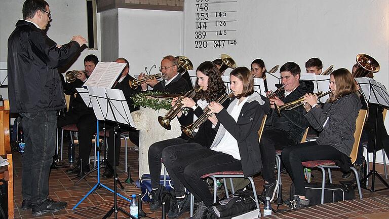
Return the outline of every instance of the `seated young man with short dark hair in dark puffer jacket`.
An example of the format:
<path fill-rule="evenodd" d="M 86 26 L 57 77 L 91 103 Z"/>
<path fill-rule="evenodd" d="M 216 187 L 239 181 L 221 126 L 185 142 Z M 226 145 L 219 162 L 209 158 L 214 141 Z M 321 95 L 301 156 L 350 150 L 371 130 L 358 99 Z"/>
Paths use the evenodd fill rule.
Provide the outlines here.
<path fill-rule="evenodd" d="M 314 84 L 299 82 L 300 67 L 294 62 L 287 62 L 281 66 L 281 83 L 284 85 L 285 94 L 270 99 L 270 107 L 275 108 L 285 103 L 301 98 L 306 93 L 313 92 Z M 273 201 L 278 188 L 275 178 L 274 166 L 276 163 L 276 150 L 282 150 L 301 141 L 308 122 L 302 115 L 304 107 L 299 106 L 291 110 L 281 111 L 281 117 L 273 110 L 266 120 L 259 147 L 262 155 L 262 177 L 265 180 L 264 189 L 260 197 L 266 200 L 266 196 Z M 267 191 L 267 193 L 266 193 Z"/>

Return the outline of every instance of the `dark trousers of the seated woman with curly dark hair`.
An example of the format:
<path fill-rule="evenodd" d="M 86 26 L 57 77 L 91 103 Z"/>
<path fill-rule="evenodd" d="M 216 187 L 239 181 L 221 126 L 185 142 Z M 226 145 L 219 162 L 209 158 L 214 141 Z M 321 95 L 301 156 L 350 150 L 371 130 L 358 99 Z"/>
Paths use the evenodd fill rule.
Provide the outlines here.
<path fill-rule="evenodd" d="M 160 174 L 162 168 L 162 164 L 161 164 L 162 151 L 171 145 L 181 144 L 185 142 L 186 142 L 185 139 L 178 137 L 178 138 L 158 141 L 150 145 L 150 148 L 148 149 L 148 168 L 150 170 L 151 187 L 153 189 L 157 189 L 158 186 L 160 185 Z M 169 176 L 170 178 L 172 178 L 170 172 L 171 171 L 169 171 Z M 178 197 L 183 196 L 185 190 L 182 184 L 180 183 L 180 181 L 179 180 L 173 181 L 173 185 L 176 194 L 177 193 L 182 194 L 179 195 Z"/>

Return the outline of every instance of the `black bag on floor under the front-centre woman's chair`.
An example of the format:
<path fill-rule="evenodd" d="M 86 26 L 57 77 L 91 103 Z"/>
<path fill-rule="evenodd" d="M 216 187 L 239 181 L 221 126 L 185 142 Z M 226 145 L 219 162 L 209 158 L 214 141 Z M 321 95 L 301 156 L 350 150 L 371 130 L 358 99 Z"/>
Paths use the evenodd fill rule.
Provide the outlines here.
<path fill-rule="evenodd" d="M 209 206 L 204 212 L 206 219 L 229 219 L 255 209 L 252 190 L 239 190 L 229 198 L 220 200 Z"/>

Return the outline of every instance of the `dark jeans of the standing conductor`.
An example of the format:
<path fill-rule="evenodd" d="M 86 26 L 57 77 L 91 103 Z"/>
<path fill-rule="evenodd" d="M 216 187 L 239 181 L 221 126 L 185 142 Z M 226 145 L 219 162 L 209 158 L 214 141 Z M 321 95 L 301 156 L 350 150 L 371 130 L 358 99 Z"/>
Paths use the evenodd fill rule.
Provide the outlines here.
<path fill-rule="evenodd" d="M 50 167 L 55 153 L 55 111 L 21 113 L 25 151 L 22 168 L 23 200 L 40 204 L 49 195 Z"/>

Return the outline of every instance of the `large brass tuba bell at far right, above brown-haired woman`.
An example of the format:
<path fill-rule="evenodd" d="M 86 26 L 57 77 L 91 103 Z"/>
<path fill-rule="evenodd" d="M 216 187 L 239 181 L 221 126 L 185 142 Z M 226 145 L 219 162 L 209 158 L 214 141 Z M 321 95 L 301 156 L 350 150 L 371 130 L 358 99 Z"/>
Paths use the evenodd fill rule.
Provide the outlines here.
<path fill-rule="evenodd" d="M 357 69 L 353 73 L 354 78 L 365 77 L 369 72 L 376 73 L 379 71 L 379 63 L 373 57 L 366 54 L 358 54 L 356 57 Z"/>

